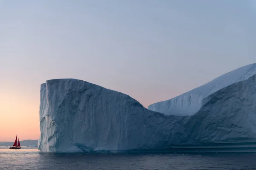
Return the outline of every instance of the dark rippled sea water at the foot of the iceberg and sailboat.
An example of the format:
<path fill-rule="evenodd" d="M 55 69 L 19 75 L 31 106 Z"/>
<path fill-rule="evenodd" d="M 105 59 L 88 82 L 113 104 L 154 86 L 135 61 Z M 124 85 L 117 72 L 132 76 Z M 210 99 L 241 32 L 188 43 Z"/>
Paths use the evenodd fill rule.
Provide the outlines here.
<path fill-rule="evenodd" d="M 0 147 L 0 170 L 256 170 L 256 153 L 42 153 Z"/>

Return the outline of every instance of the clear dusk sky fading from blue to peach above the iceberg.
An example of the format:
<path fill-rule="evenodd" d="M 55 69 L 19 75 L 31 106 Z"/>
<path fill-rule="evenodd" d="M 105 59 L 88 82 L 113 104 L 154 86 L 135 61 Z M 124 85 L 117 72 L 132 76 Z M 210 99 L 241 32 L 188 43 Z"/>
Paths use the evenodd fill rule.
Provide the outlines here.
<path fill-rule="evenodd" d="M 38 139 L 40 85 L 171 99 L 256 62 L 256 0 L 0 0 L 0 141 Z"/>

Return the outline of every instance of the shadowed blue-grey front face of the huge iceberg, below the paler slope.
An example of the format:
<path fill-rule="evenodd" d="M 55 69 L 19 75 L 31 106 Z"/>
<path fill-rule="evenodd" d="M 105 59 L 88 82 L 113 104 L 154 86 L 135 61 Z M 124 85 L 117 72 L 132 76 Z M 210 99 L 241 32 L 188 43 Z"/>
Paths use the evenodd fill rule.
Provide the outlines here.
<path fill-rule="evenodd" d="M 41 85 L 40 131 L 43 152 L 256 142 L 256 75 L 207 96 L 192 116 L 150 111 L 128 95 L 82 80 L 48 80 Z"/>

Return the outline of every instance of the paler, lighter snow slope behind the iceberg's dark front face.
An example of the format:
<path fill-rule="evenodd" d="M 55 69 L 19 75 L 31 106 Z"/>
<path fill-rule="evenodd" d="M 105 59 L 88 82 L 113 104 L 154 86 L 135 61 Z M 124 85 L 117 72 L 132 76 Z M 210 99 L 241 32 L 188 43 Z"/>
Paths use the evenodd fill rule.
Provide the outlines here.
<path fill-rule="evenodd" d="M 205 85 L 188 91 L 175 98 L 157 102 L 148 106 L 151 111 L 157 111 L 166 115 L 190 116 L 199 111 L 204 98 L 216 91 L 248 79 L 256 74 L 256 63 L 246 65 L 234 71 L 230 71 Z"/>

